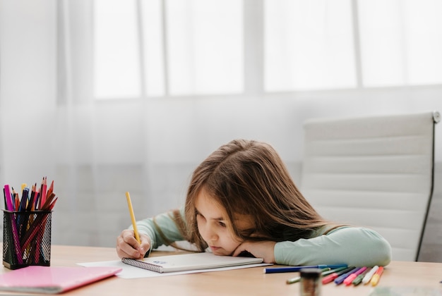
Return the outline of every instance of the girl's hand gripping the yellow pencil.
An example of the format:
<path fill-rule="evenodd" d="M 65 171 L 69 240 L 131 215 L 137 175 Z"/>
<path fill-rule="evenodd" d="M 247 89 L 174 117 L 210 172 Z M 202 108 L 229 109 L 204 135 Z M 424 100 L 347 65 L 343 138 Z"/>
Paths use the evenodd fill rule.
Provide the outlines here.
<path fill-rule="evenodd" d="M 138 244 L 133 230 L 123 230 L 117 238 L 117 254 L 120 258 L 143 259 L 150 249 L 150 238 L 140 233 L 141 244 Z"/>

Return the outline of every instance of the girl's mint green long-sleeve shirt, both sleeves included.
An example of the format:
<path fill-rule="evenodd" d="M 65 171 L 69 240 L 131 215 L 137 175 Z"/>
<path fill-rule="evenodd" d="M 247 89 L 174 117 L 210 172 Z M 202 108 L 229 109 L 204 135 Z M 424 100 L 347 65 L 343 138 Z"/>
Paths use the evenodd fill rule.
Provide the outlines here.
<path fill-rule="evenodd" d="M 184 219 L 184 209 L 181 209 Z M 172 213 L 155 216 L 155 222 L 171 242 L 184 240 L 172 219 Z M 167 245 L 157 232 L 153 218 L 137 221 L 140 233 L 148 235 L 151 249 Z M 324 235 L 318 228 L 311 238 L 295 242 L 277 242 L 275 263 L 283 265 L 348 264 L 349 266 L 386 266 L 391 260 L 390 244 L 369 228 L 342 226 Z"/>

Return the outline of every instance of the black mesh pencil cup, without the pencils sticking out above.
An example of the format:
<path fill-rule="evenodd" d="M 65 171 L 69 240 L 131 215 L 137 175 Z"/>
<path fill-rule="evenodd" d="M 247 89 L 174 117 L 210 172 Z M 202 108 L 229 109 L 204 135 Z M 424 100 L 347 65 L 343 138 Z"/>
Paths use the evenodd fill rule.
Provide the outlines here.
<path fill-rule="evenodd" d="M 3 265 L 51 264 L 52 211 L 3 211 Z"/>

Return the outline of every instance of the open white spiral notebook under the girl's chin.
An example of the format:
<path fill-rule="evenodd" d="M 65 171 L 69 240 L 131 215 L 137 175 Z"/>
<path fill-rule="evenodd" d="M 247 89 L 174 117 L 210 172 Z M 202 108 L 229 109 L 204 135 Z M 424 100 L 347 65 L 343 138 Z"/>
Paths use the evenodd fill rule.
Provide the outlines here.
<path fill-rule="evenodd" d="M 216 269 L 262 263 L 262 258 L 217 256 L 212 253 L 178 254 L 141 259 L 121 259 L 123 263 L 159 273 L 191 271 L 196 269 Z"/>

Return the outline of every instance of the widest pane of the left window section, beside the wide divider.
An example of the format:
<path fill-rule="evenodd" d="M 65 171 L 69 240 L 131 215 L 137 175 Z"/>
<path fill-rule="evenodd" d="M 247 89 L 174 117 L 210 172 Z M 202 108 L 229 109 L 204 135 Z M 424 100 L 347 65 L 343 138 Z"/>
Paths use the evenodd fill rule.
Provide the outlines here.
<path fill-rule="evenodd" d="M 242 92 L 242 1 L 166 3 L 170 94 Z"/>

